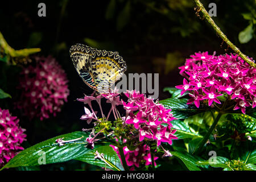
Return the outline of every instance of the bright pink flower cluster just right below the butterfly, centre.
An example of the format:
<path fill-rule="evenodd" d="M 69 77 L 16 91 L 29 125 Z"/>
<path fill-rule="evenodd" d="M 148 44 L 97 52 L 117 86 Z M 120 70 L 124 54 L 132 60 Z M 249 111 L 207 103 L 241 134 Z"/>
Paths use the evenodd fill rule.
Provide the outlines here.
<path fill-rule="evenodd" d="M 125 93 L 128 98 L 127 103 L 122 101 L 123 108 L 126 110 L 124 121 L 134 125 L 139 131 L 139 141 L 144 139 L 155 140 L 157 146 L 161 142 L 172 144 L 172 139 L 176 130 L 172 129 L 171 121 L 175 119 L 170 113 L 171 109 L 166 109 L 162 104 L 154 102 L 152 98 L 147 98 L 135 90 Z M 135 115 L 134 111 L 138 111 Z M 163 126 L 166 123 L 167 126 Z"/>

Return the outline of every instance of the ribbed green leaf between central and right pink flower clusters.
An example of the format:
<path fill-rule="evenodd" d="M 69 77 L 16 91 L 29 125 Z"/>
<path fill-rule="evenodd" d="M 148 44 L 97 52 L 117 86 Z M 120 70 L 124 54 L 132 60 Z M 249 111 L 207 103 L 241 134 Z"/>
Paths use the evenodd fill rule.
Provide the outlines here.
<path fill-rule="evenodd" d="M 209 109 L 197 109 L 193 105 L 187 105 L 187 98 L 174 99 L 167 98 L 166 100 L 159 101 L 160 104 L 163 104 L 167 109 L 172 109 L 171 113 L 177 119 L 185 119 L 191 115 L 205 112 Z"/>

